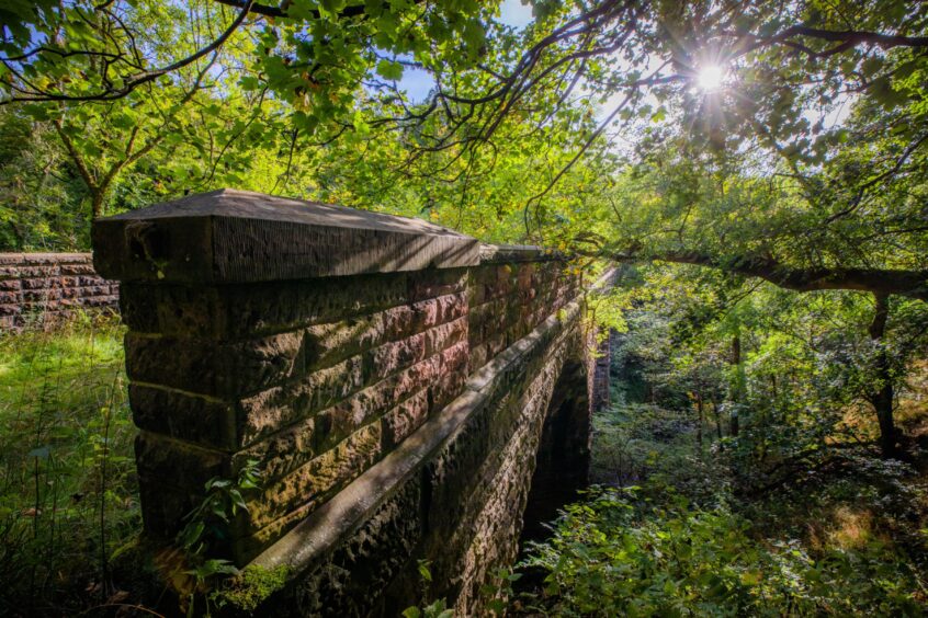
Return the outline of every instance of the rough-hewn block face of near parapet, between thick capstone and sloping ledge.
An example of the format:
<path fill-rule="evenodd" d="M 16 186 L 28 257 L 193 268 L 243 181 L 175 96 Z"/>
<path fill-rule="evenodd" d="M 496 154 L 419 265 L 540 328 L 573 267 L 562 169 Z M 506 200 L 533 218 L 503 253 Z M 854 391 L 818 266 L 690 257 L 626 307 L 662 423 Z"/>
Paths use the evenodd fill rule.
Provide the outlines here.
<path fill-rule="evenodd" d="M 172 535 L 208 479 L 257 464 L 231 530 L 242 563 L 389 453 L 461 391 L 466 279 L 124 285 L 146 529 Z"/>

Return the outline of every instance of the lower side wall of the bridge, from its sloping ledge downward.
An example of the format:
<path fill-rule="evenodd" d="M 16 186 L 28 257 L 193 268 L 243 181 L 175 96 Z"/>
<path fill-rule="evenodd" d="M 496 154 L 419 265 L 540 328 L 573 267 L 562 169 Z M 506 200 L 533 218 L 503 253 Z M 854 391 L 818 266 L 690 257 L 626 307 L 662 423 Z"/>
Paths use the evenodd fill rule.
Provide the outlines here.
<path fill-rule="evenodd" d="M 396 451 L 259 556 L 253 564 L 301 573 L 264 611 L 397 616 L 425 587 L 455 616 L 483 614 L 482 587 L 499 584 L 497 569 L 518 552 L 548 402 L 582 339 L 579 313 L 566 306 L 475 371 Z"/>

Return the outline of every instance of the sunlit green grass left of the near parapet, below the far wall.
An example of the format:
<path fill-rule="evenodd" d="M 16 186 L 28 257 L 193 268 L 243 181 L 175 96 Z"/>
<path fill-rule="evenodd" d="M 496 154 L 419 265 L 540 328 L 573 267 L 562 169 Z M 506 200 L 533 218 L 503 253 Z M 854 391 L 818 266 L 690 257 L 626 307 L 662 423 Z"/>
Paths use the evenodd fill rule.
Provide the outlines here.
<path fill-rule="evenodd" d="M 122 337 L 86 316 L 0 336 L 0 614 L 121 594 L 112 563 L 140 528 Z"/>

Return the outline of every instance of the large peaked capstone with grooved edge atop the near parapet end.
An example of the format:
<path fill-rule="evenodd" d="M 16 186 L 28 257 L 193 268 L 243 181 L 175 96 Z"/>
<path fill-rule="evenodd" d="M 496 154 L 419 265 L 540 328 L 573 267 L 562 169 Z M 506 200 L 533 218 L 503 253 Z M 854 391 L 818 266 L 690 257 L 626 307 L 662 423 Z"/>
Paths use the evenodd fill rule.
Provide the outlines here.
<path fill-rule="evenodd" d="M 473 238 L 404 217 L 220 190 L 94 221 L 120 281 L 246 283 L 471 266 Z"/>

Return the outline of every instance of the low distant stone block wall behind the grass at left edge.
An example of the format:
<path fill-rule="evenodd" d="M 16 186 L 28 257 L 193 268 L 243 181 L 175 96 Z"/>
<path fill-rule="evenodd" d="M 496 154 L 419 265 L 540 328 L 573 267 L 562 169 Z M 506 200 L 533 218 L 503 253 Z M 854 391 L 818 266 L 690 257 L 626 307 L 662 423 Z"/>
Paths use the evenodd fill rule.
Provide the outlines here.
<path fill-rule="evenodd" d="M 0 253 L 0 331 L 46 324 L 77 309 L 115 309 L 118 284 L 90 253 Z"/>

